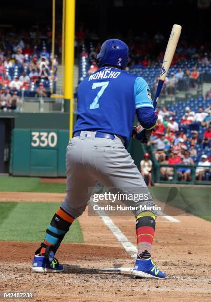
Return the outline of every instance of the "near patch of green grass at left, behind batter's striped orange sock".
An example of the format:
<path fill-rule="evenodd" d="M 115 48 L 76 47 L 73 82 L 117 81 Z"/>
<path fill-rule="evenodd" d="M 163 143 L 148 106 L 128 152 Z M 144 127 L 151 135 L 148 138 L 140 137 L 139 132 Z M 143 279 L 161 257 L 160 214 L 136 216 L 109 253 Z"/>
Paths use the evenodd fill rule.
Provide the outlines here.
<path fill-rule="evenodd" d="M 0 202 L 0 241 L 43 241 L 59 203 Z M 83 242 L 76 219 L 63 242 Z"/>

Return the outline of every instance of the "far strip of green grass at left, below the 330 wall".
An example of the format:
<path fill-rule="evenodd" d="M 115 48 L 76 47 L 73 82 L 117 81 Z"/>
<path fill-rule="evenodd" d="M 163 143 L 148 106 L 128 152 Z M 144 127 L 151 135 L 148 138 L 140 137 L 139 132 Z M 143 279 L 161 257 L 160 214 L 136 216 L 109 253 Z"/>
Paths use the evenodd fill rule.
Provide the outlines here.
<path fill-rule="evenodd" d="M 65 193 L 65 184 L 40 183 L 38 177 L 0 176 L 0 191 Z"/>

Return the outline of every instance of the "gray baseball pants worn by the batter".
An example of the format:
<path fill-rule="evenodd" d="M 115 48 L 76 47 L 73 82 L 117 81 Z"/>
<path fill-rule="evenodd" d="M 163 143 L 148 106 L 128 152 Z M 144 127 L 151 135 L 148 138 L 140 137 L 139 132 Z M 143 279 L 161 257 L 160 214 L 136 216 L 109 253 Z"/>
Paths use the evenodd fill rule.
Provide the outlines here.
<path fill-rule="evenodd" d="M 90 137 L 85 137 L 85 133 Z M 141 173 L 125 149 L 121 139 L 95 138 L 96 132 L 81 131 L 80 137 L 70 140 L 66 152 L 67 188 L 61 207 L 72 217 L 85 210 L 92 190 L 99 180 L 107 187 L 119 188 L 127 194 L 149 193 Z M 130 205 L 154 206 L 147 200 L 130 201 Z M 142 210 L 134 211 L 137 216 Z M 156 214 L 155 214 L 156 215 Z"/>

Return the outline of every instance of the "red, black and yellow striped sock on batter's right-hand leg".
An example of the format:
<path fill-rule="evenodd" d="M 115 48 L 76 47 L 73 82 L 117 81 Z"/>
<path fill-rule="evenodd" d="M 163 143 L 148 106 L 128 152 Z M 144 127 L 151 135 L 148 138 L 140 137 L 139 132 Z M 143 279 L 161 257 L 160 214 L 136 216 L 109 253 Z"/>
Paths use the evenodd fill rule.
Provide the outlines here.
<path fill-rule="evenodd" d="M 136 217 L 136 235 L 138 244 L 138 258 L 151 257 L 151 247 L 155 231 L 156 216 L 151 211 L 144 211 Z"/>

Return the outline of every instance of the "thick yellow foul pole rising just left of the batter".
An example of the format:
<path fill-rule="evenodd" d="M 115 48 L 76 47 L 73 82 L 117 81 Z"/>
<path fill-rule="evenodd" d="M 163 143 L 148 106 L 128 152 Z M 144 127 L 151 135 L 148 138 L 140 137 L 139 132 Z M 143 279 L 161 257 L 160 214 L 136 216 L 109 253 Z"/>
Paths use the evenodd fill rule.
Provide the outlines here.
<path fill-rule="evenodd" d="M 70 138 L 73 132 L 73 74 L 75 41 L 75 0 L 65 1 L 65 40 L 64 40 L 64 109 L 70 113 Z"/>

